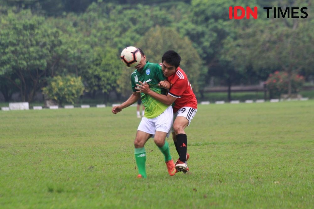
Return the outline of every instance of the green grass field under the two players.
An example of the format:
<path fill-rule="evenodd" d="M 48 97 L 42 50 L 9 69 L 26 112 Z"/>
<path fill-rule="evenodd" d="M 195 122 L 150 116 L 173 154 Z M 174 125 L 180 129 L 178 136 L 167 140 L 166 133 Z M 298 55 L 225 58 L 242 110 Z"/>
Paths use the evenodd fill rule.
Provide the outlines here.
<path fill-rule="evenodd" d="M 148 178 L 136 179 L 139 121 L 135 107 L 0 111 L 0 207 L 314 206 L 313 100 L 199 105 L 190 173 L 172 177 L 149 140 Z"/>

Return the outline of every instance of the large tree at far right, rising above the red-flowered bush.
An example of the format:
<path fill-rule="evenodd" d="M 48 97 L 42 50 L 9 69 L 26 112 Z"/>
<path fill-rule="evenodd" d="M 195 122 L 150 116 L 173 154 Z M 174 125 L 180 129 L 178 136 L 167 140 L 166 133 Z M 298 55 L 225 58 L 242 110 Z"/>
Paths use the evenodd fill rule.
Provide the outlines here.
<path fill-rule="evenodd" d="M 285 5 L 310 7 L 310 3 L 304 1 L 279 1 L 274 3 L 277 5 L 283 10 Z M 313 19 L 266 19 L 263 16 L 261 19 L 264 20 L 237 30 L 237 37 L 242 38 L 228 41 L 232 48 L 228 56 L 233 57 L 237 64 L 251 65 L 264 79 L 276 70 L 286 72 L 290 96 L 293 74 L 300 71 L 310 74 L 314 69 Z"/>

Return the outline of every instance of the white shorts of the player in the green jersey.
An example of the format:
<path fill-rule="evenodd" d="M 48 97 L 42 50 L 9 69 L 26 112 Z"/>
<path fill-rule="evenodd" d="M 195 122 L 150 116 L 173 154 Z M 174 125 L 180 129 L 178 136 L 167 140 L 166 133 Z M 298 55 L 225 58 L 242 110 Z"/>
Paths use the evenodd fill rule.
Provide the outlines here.
<path fill-rule="evenodd" d="M 169 106 L 163 113 L 155 118 L 149 119 L 145 116 L 142 117 L 142 120 L 138 125 L 138 131 L 152 134 L 152 138 L 154 138 L 156 131 L 161 131 L 167 133 L 167 137 L 169 137 L 172 124 L 173 110 L 172 107 Z"/>

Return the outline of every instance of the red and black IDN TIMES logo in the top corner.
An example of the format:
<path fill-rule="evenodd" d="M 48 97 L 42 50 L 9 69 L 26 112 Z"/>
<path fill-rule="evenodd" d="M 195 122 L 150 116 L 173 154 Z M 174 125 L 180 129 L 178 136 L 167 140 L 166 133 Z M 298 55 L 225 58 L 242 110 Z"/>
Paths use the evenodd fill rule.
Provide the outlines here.
<path fill-rule="evenodd" d="M 307 18 L 308 14 L 306 12 L 307 7 L 263 7 L 263 10 L 267 12 L 267 18 Z M 257 7 L 251 9 L 250 7 L 229 7 L 229 19 L 250 19 L 252 16 L 257 19 Z"/>

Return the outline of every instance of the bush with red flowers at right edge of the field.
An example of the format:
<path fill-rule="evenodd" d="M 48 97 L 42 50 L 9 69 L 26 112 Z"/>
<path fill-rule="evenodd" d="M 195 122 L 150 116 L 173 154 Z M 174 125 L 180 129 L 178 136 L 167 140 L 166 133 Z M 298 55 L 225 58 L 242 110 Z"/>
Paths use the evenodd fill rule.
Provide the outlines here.
<path fill-rule="evenodd" d="M 296 73 L 291 76 L 291 93 L 298 93 L 304 84 L 304 77 Z M 288 94 L 289 76 L 287 72 L 276 71 L 269 74 L 266 85 L 273 96 Z"/>

